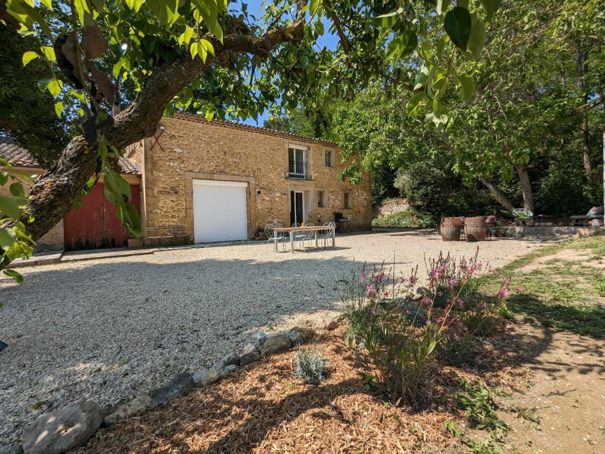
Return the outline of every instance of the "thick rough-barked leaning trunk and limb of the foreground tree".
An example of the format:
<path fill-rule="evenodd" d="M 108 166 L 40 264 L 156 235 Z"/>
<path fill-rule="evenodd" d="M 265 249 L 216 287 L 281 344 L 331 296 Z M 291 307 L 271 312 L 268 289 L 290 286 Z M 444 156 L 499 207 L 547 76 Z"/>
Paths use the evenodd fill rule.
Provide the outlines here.
<path fill-rule="evenodd" d="M 193 59 L 177 59 L 151 74 L 139 95 L 128 108 L 114 118 L 114 124 L 103 131 L 111 145 L 122 149 L 137 140 L 151 136 L 162 119 L 166 105 L 212 64 L 224 61 L 229 53 L 250 53 L 267 58 L 270 51 L 283 42 L 296 42 L 304 38 L 304 12 L 306 1 L 296 2 L 297 20 L 293 24 L 269 30 L 261 36 L 227 35 L 221 44 L 214 36 L 205 38 L 212 42 L 215 56 L 210 54 L 205 62 L 198 56 Z M 71 210 L 82 188 L 96 168 L 96 150 L 88 148 L 82 136 L 74 137 L 65 147 L 56 164 L 36 180 L 30 191 L 22 220 L 34 240 L 38 240 Z M 27 223 L 29 214 L 34 221 Z M 11 226 L 11 222 L 2 226 Z M 5 268 L 9 262 L 0 263 Z"/>

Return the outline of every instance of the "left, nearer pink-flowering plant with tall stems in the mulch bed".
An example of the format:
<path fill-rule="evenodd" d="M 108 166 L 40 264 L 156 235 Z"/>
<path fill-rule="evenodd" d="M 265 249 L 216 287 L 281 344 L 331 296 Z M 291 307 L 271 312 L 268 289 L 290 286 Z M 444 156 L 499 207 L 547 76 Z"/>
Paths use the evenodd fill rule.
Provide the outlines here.
<path fill-rule="evenodd" d="M 359 277 L 353 273 L 347 281 L 342 294 L 347 335 L 364 347 L 364 358 L 378 370 L 390 399 L 415 404 L 451 306 L 437 317 L 430 295 L 414 303 L 410 291 L 418 281 L 417 269 L 401 277 L 383 270 L 384 265 L 367 273 L 364 266 Z"/>

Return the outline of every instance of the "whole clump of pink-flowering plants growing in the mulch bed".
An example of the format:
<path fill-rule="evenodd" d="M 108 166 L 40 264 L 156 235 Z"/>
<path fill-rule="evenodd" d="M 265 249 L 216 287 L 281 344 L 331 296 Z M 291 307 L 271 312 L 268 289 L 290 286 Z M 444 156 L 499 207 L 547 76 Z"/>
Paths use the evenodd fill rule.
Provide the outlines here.
<path fill-rule="evenodd" d="M 428 288 L 414 294 L 417 268 L 399 277 L 393 269 L 385 272 L 383 264 L 370 272 L 364 265 L 345 280 L 346 336 L 376 368 L 390 399 L 414 405 L 437 351 L 448 363 L 463 363 L 502 322 L 510 279 L 488 297 L 478 291 L 485 267 L 477 254 L 457 262 L 439 254 L 428 262 Z"/>

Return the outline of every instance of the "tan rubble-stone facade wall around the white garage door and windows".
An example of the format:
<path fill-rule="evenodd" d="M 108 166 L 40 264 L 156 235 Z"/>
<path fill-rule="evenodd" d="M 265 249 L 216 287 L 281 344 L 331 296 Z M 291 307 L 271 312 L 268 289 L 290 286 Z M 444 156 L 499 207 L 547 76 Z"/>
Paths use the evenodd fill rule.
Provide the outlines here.
<path fill-rule="evenodd" d="M 164 129 L 159 128 L 155 137 L 145 139 L 142 147 L 135 144 L 129 153 L 141 166 L 146 226 L 183 225 L 192 236 L 192 180 L 214 179 L 248 183 L 249 237 L 269 222 L 290 225 L 291 190 L 309 191 L 309 222 L 329 222 L 338 211 L 350 219 L 350 230 L 371 228 L 369 176 L 364 174 L 359 185 L 342 182 L 336 148 L 313 139 L 239 130 L 185 116 L 163 118 L 160 126 Z M 287 177 L 289 144 L 306 147 L 309 180 Z M 333 151 L 332 167 L 325 166 L 325 150 Z M 318 207 L 318 191 L 324 191 L 324 208 Z M 343 207 L 345 191 L 350 192 L 350 209 Z"/>

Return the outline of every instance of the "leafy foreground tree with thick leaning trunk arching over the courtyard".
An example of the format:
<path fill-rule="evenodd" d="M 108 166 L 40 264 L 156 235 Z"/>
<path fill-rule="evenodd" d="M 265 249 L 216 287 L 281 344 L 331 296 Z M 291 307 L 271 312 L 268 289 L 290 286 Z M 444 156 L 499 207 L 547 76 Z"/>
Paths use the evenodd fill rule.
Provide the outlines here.
<path fill-rule="evenodd" d="M 2 265 L 24 252 L 69 211 L 93 174 L 105 173 L 106 196 L 123 224 L 140 235 L 129 185 L 114 163 L 129 143 L 151 136 L 162 114 L 193 108 L 206 119 L 245 118 L 267 108 L 279 113 L 301 105 L 321 112 L 332 100 L 353 96 L 372 77 L 416 90 L 410 113 L 435 123 L 448 119 L 448 94 L 468 99 L 485 43 L 485 24 L 499 0 L 331 2 L 267 1 L 255 18 L 243 3 L 227 0 L 10 0 L 0 18 L 40 47 L 23 55 L 48 62 L 38 82 L 56 100 L 56 111 L 76 107 L 82 136 L 67 145 L 28 199 L 2 200 Z M 48 12 L 68 19 L 47 20 Z M 336 50 L 318 48 L 323 19 L 338 35 Z M 411 54 L 422 62 L 414 84 L 399 65 Z M 103 62 L 116 61 L 111 74 Z M 116 117 L 117 82 L 136 97 Z M 194 97 L 200 87 L 208 96 Z M 93 151 L 93 153 L 91 153 Z M 9 208 L 7 203 L 15 209 Z M 27 234 L 13 229 L 27 222 Z"/>

